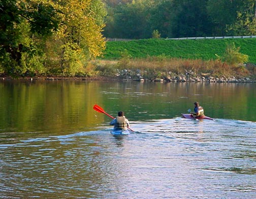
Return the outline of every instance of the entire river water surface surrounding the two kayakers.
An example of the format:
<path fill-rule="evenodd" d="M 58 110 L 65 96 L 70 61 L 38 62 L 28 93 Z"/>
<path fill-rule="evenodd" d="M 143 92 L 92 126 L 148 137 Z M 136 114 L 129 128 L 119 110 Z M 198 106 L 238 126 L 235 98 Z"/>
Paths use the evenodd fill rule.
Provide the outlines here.
<path fill-rule="evenodd" d="M 255 198 L 255 112 L 256 84 L 2 81 L 0 198 Z"/>

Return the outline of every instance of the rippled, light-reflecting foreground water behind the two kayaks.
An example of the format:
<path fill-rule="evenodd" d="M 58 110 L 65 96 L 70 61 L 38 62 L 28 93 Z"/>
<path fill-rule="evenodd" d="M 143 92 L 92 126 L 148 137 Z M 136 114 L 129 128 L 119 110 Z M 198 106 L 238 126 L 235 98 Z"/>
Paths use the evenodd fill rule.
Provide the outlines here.
<path fill-rule="evenodd" d="M 106 127 L 7 142 L 1 135 L 1 197 L 254 198 L 255 123 L 131 124 L 139 132 L 119 137 Z"/>

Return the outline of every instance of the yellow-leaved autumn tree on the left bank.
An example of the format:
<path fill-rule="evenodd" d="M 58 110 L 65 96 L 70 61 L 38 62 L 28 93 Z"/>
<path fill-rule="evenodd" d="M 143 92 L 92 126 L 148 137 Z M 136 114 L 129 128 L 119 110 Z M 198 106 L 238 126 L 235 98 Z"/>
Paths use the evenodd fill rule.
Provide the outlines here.
<path fill-rule="evenodd" d="M 45 50 L 48 52 L 46 66 L 52 68 L 53 62 L 54 65 L 59 62 L 57 71 L 63 75 L 83 73 L 88 61 L 100 56 L 105 48 L 101 33 L 105 5 L 100 0 L 63 0 L 55 7 L 60 10 L 61 23 L 54 37 L 50 38 L 56 42 L 48 42 Z"/>

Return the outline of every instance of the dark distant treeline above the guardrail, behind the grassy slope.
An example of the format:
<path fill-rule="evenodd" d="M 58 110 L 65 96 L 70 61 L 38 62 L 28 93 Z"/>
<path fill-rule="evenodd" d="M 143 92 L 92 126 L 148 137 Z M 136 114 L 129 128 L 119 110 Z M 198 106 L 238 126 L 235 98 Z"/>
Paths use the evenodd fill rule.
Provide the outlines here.
<path fill-rule="evenodd" d="M 107 0 L 110 38 L 255 35 L 255 0 Z M 152 35 L 153 33 L 153 35 Z"/>

